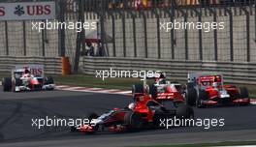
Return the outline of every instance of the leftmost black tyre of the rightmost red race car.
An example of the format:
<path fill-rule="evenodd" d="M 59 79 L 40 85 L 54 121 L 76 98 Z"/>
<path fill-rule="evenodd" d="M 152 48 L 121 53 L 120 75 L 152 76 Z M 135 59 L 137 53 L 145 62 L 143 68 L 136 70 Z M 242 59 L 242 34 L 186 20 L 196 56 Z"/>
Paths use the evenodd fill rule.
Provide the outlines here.
<path fill-rule="evenodd" d="M 185 90 L 186 103 L 193 106 L 197 101 L 197 90 L 194 87 L 187 86 Z"/>

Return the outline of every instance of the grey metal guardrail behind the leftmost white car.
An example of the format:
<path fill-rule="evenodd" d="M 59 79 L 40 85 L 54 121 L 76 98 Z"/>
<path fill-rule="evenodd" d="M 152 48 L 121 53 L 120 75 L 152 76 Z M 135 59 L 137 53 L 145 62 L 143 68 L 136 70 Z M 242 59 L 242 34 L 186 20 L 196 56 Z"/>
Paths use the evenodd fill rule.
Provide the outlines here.
<path fill-rule="evenodd" d="M 61 58 L 0 56 L 0 72 L 11 72 L 18 64 L 41 64 L 46 74 L 61 74 Z"/>

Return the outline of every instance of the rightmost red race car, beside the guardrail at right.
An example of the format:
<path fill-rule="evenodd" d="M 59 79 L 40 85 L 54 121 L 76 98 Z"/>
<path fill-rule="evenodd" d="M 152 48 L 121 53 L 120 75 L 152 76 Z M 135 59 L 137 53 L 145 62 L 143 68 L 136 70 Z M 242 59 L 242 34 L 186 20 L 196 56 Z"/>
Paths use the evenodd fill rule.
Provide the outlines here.
<path fill-rule="evenodd" d="M 198 107 L 250 103 L 246 87 L 224 84 L 219 73 L 188 73 L 186 92 L 187 103 Z"/>

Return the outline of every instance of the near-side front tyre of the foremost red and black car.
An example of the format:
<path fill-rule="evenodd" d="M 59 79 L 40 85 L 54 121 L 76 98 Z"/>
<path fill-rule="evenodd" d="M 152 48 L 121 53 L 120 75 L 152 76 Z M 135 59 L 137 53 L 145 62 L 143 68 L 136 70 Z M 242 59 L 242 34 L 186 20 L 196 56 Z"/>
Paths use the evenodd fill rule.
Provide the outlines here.
<path fill-rule="evenodd" d="M 124 124 L 131 130 L 139 130 L 143 128 L 144 121 L 140 113 L 129 111 L 124 115 Z"/>

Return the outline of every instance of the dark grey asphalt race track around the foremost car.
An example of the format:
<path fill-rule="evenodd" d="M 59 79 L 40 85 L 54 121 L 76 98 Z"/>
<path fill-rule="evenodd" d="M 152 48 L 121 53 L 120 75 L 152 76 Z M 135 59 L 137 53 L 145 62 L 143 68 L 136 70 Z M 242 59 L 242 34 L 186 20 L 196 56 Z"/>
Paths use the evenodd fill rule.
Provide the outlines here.
<path fill-rule="evenodd" d="M 1 87 L 0 87 L 1 88 Z M 0 147 L 138 146 L 256 140 L 256 105 L 212 107 L 195 110 L 196 118 L 224 118 L 224 127 L 171 128 L 140 132 L 69 132 L 68 127 L 32 127 L 36 118 L 86 118 L 124 107 L 129 96 L 68 91 L 0 92 Z"/>

